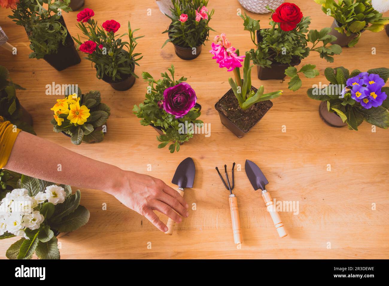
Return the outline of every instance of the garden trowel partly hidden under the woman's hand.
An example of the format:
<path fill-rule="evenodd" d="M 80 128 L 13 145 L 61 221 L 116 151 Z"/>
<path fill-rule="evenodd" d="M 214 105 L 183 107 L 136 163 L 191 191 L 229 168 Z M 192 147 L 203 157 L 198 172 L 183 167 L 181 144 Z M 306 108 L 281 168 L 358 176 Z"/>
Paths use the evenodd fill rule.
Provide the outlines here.
<path fill-rule="evenodd" d="M 195 181 L 195 162 L 193 159 L 188 157 L 178 165 L 177 170 L 175 170 L 172 183 L 178 186 L 177 192 L 184 196 L 185 188 L 192 188 L 193 181 Z M 172 235 L 175 221 L 169 218 L 168 223 L 166 223 L 168 231 L 165 234 Z"/>

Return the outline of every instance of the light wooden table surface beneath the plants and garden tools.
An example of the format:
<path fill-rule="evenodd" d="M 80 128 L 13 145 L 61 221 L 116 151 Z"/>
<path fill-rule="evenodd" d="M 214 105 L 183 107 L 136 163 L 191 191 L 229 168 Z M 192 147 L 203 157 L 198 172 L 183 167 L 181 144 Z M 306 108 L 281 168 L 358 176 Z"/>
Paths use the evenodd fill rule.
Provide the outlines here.
<path fill-rule="evenodd" d="M 314 1 L 295 0 L 304 16 L 311 16 L 310 28 L 329 27 L 333 18 L 326 16 Z M 86 226 L 61 237 L 61 258 L 389 258 L 389 132 L 364 122 L 358 132 L 331 128 L 319 117 L 319 102 L 311 100 L 306 90 L 319 81 L 326 82 L 324 69 L 343 65 L 349 70 L 388 67 L 389 37 L 385 32 L 363 33 L 355 48 L 344 48 L 334 63 L 327 63 L 317 53 L 301 65 L 317 65 L 320 76 L 303 78 L 299 91 L 287 89 L 287 81 L 260 81 L 252 74 L 253 86 L 265 85 L 265 92 L 284 90 L 273 100 L 272 109 L 244 138 L 238 139 L 220 122 L 214 109 L 217 100 L 230 89 L 228 77 L 208 53 L 210 43 L 192 61 L 178 58 L 172 44 L 161 46 L 169 19 L 155 1 L 86 0 L 85 7 L 95 11 L 94 19 L 107 19 L 140 28 L 137 52 L 144 55 L 135 72 L 150 72 L 158 78 L 173 64 L 178 76 L 186 76 L 202 105 L 202 119 L 211 125 L 211 136 L 198 134 L 185 143 L 179 153 L 170 154 L 167 147 L 158 149 L 156 132 L 141 126 L 132 113 L 134 104 L 143 101 L 146 83 L 137 79 L 128 91 L 115 91 L 95 77 L 91 63 L 82 59 L 79 65 L 61 72 L 44 60 L 28 59 L 28 39 L 23 27 L 7 18 L 10 10 L 0 9 L 0 25 L 9 42 L 18 48 L 17 55 L 0 49 L 0 64 L 7 67 L 12 80 L 27 88 L 18 91 L 21 104 L 33 117 L 38 136 L 96 160 L 126 170 L 149 174 L 171 184 L 177 165 L 190 156 L 195 161 L 193 189 L 185 192 L 187 202 L 195 204 L 186 218 L 176 225 L 172 236 L 157 230 L 147 219 L 131 211 L 103 191 L 81 189 L 81 204 L 91 213 Z M 246 51 L 252 48 L 249 33 L 243 30 L 237 10 L 245 9 L 237 0 L 211 0 L 215 9 L 210 26 L 217 32 L 210 39 L 226 33 L 233 46 Z M 151 9 L 151 10 L 148 10 Z M 151 11 L 151 16 L 148 16 Z M 247 12 L 247 11 L 246 11 Z M 76 15 L 64 13 L 71 35 L 77 35 Z M 270 14 L 248 13 L 269 27 Z M 386 13 L 385 16 L 389 16 Z M 377 54 L 371 54 L 372 47 Z M 83 58 L 84 54 L 79 52 Z M 50 108 L 56 97 L 46 95 L 46 84 L 78 84 L 82 91 L 100 90 L 103 102 L 111 107 L 107 135 L 98 144 L 75 146 L 68 137 L 53 132 Z M 282 132 L 283 126 L 286 132 Z M 254 191 L 244 172 L 245 160 L 256 162 L 268 178 L 268 191 L 277 201 L 299 203 L 299 213 L 280 212 L 288 236 L 279 238 L 258 191 Z M 238 197 L 243 232 L 241 249 L 233 243 L 228 191 L 215 167 L 233 162 L 241 165 L 235 172 L 234 193 Z M 151 171 L 147 171 L 151 165 Z M 331 171 L 328 171 L 328 164 Z M 84 166 L 85 167 L 85 166 Z M 44 168 L 44 166 L 40 166 Z M 77 186 L 73 187 L 74 189 Z M 107 210 L 103 210 L 107 204 Z M 375 206 L 375 209 L 374 207 Z M 374 210 L 373 210 L 373 209 Z M 167 221 L 166 216 L 159 214 Z M 0 258 L 16 238 L 0 241 Z M 151 243 L 151 249 L 148 247 Z"/>

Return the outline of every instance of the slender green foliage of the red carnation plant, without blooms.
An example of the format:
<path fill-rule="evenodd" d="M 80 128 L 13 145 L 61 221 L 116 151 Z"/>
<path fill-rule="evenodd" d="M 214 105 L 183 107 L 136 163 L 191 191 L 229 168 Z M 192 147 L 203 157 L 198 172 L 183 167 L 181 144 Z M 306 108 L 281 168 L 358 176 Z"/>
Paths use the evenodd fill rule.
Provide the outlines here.
<path fill-rule="evenodd" d="M 139 29 L 131 30 L 130 22 L 128 22 L 128 33 L 118 36 L 114 32 L 106 32 L 97 25 L 97 21 L 94 19 L 89 19 L 87 23 L 88 25 L 85 25 L 81 21 L 77 25 L 85 36 L 82 39 L 85 39 L 85 41 L 91 40 L 97 44 L 96 50 L 86 57 L 87 60 L 95 63 L 96 77 L 98 79 L 108 77 L 114 82 L 125 79 L 126 75 L 129 74 L 138 78 L 134 73 L 135 65 L 139 66 L 137 61 L 142 59 L 143 56 L 140 56 L 141 53 L 134 53 L 134 50 L 138 45 L 137 40 L 144 37 L 134 37 L 134 32 Z M 122 42 L 121 38 L 126 35 L 130 42 Z M 77 38 L 73 37 L 73 39 L 78 44 L 77 48 L 84 42 L 84 40 L 81 41 L 79 35 Z M 103 45 L 103 49 L 100 49 L 99 45 Z"/>

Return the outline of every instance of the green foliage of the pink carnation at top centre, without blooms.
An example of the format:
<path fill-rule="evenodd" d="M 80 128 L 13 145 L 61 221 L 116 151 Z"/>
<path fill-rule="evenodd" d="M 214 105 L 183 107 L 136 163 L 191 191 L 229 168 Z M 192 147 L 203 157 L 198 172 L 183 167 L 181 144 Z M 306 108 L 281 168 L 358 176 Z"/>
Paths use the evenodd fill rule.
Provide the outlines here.
<path fill-rule="evenodd" d="M 208 12 L 208 19 L 202 19 L 197 22 L 196 9 L 208 5 L 208 0 L 172 0 L 172 16 L 165 14 L 172 20 L 168 29 L 163 33 L 169 34 L 169 39 L 165 41 L 162 47 L 168 42 L 184 47 L 193 48 L 205 45 L 209 38 L 209 30 L 215 31 L 208 26 L 209 21 L 214 14 L 214 9 Z M 200 12 L 200 11 L 199 11 Z M 181 14 L 187 14 L 188 19 L 185 23 L 179 21 Z"/>

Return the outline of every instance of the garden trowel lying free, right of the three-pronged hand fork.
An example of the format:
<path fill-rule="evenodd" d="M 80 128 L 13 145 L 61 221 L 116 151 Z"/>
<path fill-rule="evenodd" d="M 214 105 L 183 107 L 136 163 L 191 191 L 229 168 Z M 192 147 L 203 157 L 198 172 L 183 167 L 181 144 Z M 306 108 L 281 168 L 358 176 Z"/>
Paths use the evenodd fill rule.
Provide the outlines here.
<path fill-rule="evenodd" d="M 267 211 L 270 213 L 270 216 L 273 219 L 274 226 L 277 229 L 279 236 L 286 237 L 287 233 L 285 231 L 284 224 L 281 221 L 280 215 L 275 210 L 275 205 L 273 204 L 272 197 L 270 196 L 268 191 L 266 191 L 265 186 L 269 182 L 267 181 L 265 175 L 262 173 L 261 169 L 250 160 L 246 160 L 245 170 L 246 175 L 249 178 L 249 181 L 251 182 L 251 185 L 254 190 L 262 190 L 262 198 L 265 201 Z"/>

